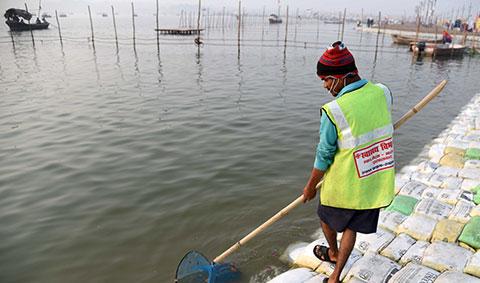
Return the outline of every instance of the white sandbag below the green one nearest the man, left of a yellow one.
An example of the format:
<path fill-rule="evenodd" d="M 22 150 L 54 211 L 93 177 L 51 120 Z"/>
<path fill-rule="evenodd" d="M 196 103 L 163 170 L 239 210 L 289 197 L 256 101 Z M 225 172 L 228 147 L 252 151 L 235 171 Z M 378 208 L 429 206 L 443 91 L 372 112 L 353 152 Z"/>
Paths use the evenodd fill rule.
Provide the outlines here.
<path fill-rule="evenodd" d="M 398 227 L 398 233 L 406 233 L 416 240 L 428 241 L 432 237 L 437 220 L 420 214 L 410 215 Z"/>

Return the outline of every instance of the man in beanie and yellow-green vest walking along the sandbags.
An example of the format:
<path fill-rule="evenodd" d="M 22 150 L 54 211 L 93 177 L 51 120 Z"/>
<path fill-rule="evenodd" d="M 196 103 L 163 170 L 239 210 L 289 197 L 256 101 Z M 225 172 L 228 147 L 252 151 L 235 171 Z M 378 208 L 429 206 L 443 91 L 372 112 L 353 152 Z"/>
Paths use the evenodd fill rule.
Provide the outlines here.
<path fill-rule="evenodd" d="M 357 232 L 375 233 L 380 208 L 394 197 L 392 98 L 386 86 L 359 77 L 340 41 L 323 53 L 317 75 L 335 100 L 321 109 L 320 142 L 303 196 L 313 199 L 323 178 L 317 213 L 329 247 L 316 246 L 314 254 L 336 263 L 324 282 L 339 282 Z M 340 248 L 337 232 L 343 233 Z"/>

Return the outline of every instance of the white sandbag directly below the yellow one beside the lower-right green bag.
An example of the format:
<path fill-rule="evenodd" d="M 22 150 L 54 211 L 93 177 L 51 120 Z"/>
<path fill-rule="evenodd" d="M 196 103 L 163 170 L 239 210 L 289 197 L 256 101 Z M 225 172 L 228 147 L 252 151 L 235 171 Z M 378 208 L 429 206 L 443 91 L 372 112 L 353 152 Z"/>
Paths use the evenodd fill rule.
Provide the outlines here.
<path fill-rule="evenodd" d="M 425 250 L 422 264 L 437 271 L 463 271 L 473 253 L 452 243 L 433 242 Z"/>

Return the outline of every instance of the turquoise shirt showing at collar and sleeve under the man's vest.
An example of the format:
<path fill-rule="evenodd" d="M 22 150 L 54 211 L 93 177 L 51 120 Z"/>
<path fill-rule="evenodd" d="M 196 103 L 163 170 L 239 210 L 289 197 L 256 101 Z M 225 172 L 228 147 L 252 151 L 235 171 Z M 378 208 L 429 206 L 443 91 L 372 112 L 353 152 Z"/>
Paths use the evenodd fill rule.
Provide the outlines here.
<path fill-rule="evenodd" d="M 367 84 L 367 80 L 359 80 L 354 83 L 351 83 L 344 88 L 337 94 L 336 99 L 344 95 L 345 93 L 354 91 L 363 87 Z M 388 105 L 391 105 L 392 99 L 390 97 L 390 101 L 387 101 Z M 337 130 L 333 122 L 328 118 L 328 115 L 323 112 L 320 117 L 320 141 L 317 145 L 317 152 L 315 156 L 315 163 L 313 167 L 318 170 L 326 171 L 330 164 L 333 163 L 333 157 L 337 152 Z"/>

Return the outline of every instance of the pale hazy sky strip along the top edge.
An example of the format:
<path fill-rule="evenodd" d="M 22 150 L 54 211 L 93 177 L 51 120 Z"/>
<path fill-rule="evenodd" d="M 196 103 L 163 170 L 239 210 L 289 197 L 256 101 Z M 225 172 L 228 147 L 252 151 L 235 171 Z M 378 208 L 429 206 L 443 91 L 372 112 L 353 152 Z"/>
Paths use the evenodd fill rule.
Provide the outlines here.
<path fill-rule="evenodd" d="M 38 9 L 38 0 L 0 0 L 0 8 L 5 10 L 9 7 L 23 7 L 24 3 L 32 7 L 31 9 Z M 110 5 L 114 5 L 116 9 L 129 9 L 132 0 L 42 0 L 42 6 L 46 11 L 53 11 L 55 9 L 66 12 L 84 11 L 87 5 L 92 8 L 108 10 Z M 155 0 L 133 0 L 138 11 L 154 10 Z M 159 0 L 160 9 L 169 13 L 179 12 L 183 7 L 195 7 L 198 5 L 198 0 Z M 335 12 L 337 13 L 344 8 L 347 8 L 348 13 L 360 13 L 362 8 L 365 14 L 377 14 L 381 11 L 384 15 L 413 15 L 415 13 L 415 6 L 420 3 L 420 0 L 280 0 L 283 8 L 289 5 L 291 11 L 297 8 L 300 11 L 306 9 L 313 9 L 321 12 Z M 467 14 L 470 3 L 472 4 L 471 13 L 480 11 L 480 0 L 437 0 L 438 13 L 446 13 L 446 11 L 457 11 L 461 14 L 462 9 Z M 223 6 L 235 9 L 238 7 L 238 0 L 202 0 L 205 7 L 221 9 Z M 242 0 L 242 6 L 247 11 L 259 11 L 264 6 L 269 11 L 275 11 L 277 8 L 277 0 Z"/>

